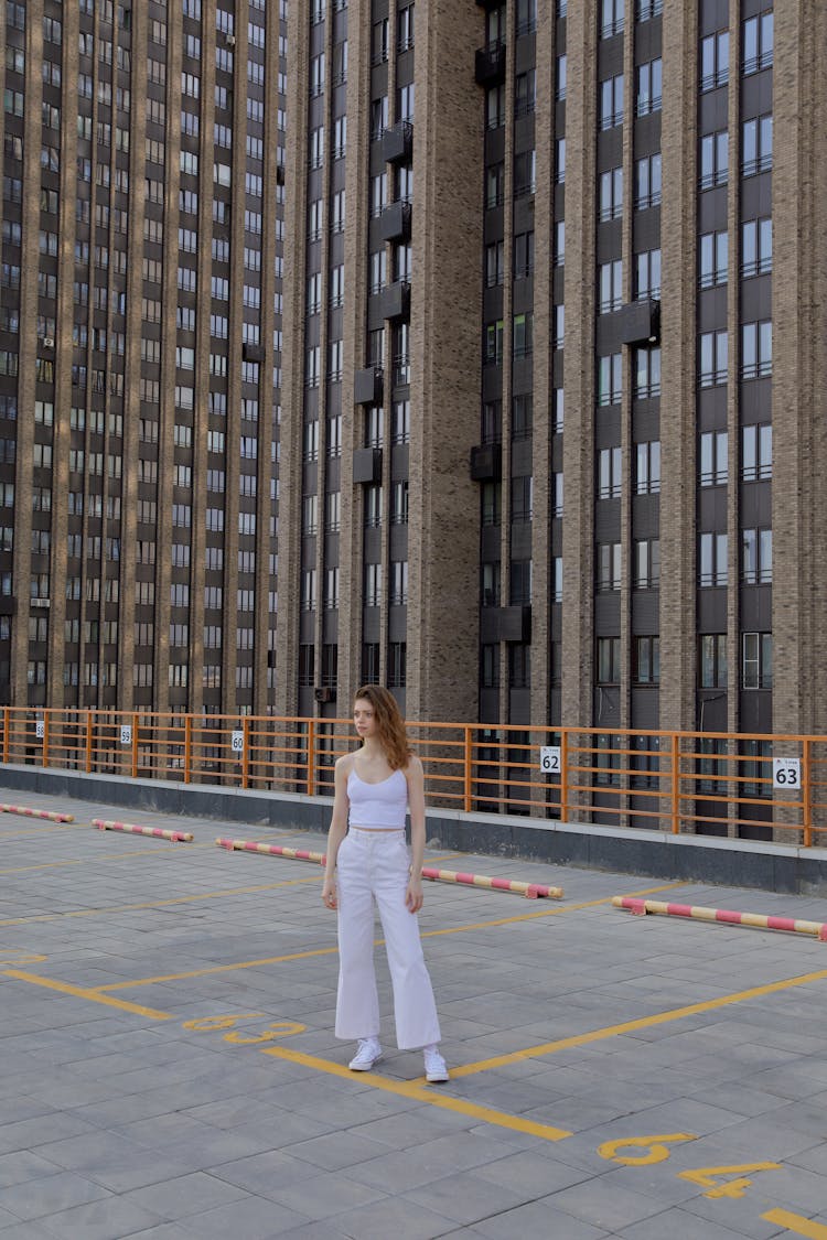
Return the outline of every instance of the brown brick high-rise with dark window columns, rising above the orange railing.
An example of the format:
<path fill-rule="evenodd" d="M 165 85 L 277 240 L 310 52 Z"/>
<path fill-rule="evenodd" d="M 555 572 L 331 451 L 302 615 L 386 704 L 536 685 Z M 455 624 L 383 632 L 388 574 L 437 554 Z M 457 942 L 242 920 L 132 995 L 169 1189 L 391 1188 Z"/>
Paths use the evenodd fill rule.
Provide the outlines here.
<path fill-rule="evenodd" d="M 827 729 L 823 5 L 0 21 L 11 701 Z"/>

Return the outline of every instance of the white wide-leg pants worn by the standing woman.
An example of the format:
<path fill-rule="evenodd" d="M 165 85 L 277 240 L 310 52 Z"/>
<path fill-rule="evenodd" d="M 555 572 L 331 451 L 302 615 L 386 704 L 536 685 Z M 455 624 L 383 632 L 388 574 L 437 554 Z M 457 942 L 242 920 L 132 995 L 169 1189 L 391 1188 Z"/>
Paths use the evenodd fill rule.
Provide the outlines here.
<path fill-rule="evenodd" d="M 410 857 L 404 832 L 350 831 L 336 858 L 338 994 L 336 1037 L 379 1034 L 373 968 L 373 900 L 384 931 L 397 1045 L 413 1050 L 439 1042 L 434 991 L 419 940 L 419 919 L 405 906 Z"/>

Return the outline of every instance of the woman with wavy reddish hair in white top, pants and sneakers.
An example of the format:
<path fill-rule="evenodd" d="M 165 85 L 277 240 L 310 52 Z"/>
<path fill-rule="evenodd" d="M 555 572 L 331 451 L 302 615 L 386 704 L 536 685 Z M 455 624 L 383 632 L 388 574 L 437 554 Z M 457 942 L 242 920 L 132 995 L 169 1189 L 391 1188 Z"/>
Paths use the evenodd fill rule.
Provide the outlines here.
<path fill-rule="evenodd" d="M 391 966 L 397 1045 L 422 1048 L 425 1076 L 446 1081 L 439 1053 L 434 992 L 419 940 L 425 796 L 422 763 L 410 753 L 396 698 L 377 684 L 356 694 L 353 723 L 362 748 L 336 763 L 322 900 L 338 910 L 336 1037 L 356 1038 L 353 1071 L 382 1058 L 379 999 L 373 970 L 373 900 Z M 410 810 L 410 854 L 405 810 Z M 350 830 L 348 830 L 350 827 Z M 335 873 L 338 869 L 338 890 Z"/>

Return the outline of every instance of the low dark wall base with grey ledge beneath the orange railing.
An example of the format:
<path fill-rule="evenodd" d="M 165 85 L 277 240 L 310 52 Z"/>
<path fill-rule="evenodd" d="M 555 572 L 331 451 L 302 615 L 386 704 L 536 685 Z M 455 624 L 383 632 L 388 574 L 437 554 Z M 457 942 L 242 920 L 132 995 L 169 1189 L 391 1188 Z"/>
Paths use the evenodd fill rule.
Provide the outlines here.
<path fill-rule="evenodd" d="M 222 820 L 249 827 L 326 832 L 330 797 L 129 780 L 42 766 L 0 768 L 0 789 L 155 810 L 182 818 Z M 524 857 L 673 882 L 749 887 L 795 895 L 827 895 L 827 848 L 796 848 L 758 841 L 671 836 L 528 818 L 428 811 L 428 842 L 439 848 L 491 857 Z M 564 885 L 564 884 L 563 884 Z"/>

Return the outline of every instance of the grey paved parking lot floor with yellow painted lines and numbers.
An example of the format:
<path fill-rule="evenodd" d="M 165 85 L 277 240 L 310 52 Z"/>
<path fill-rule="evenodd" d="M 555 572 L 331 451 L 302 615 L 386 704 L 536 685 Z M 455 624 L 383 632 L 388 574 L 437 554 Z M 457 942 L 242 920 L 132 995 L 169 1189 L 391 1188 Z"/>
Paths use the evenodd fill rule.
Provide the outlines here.
<path fill-rule="evenodd" d="M 16 799 L 76 821 L 0 815 L 0 1240 L 827 1240 L 827 944 L 611 898 L 823 901 L 429 848 L 564 898 L 427 884 L 427 1085 L 381 951 L 386 1056 L 347 1069 L 319 866 L 214 843 L 322 837 Z"/>

